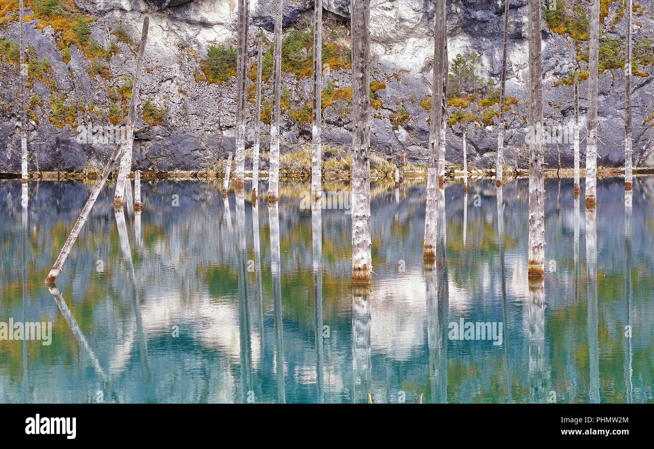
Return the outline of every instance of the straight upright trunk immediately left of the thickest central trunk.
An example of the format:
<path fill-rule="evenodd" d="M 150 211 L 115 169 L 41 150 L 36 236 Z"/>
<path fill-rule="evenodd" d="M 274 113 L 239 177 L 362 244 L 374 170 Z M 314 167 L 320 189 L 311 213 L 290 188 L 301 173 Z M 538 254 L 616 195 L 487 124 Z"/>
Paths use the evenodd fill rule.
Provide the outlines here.
<path fill-rule="evenodd" d="M 315 0 L 313 21 L 313 151 L 311 153 L 311 190 L 320 198 L 322 177 L 322 144 L 320 116 L 322 108 L 322 0 Z"/>

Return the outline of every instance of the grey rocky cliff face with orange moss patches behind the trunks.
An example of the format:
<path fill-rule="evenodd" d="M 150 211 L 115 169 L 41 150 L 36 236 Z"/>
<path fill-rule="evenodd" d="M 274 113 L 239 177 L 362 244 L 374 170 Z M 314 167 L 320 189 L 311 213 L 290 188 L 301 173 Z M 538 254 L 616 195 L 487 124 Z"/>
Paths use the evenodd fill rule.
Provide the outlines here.
<path fill-rule="evenodd" d="M 11 3 L 9 0 L 1 0 Z M 71 0 L 72 1 L 72 0 Z M 570 1 L 570 0 L 568 0 Z M 572 3 L 570 1 L 570 3 Z M 17 4 L 17 2 L 16 2 Z M 624 39 L 621 4 L 608 5 L 604 17 L 604 35 Z M 29 8 L 37 9 L 29 1 Z M 589 10 L 589 5 L 582 2 Z M 506 113 L 506 163 L 525 166 L 526 99 L 528 67 L 526 41 L 526 0 L 511 0 L 509 15 L 509 65 L 507 94 L 518 99 Z M 341 47 L 349 45 L 349 1 L 324 0 L 324 35 Z M 29 170 L 78 171 L 100 167 L 111 153 L 112 126 L 120 126 L 128 104 L 129 75 L 135 68 L 135 53 L 144 14 L 150 16 L 150 35 L 146 47 L 141 103 L 148 100 L 148 111 L 139 111 L 135 141 L 135 167 L 141 170 L 203 169 L 233 151 L 235 79 L 222 83 L 207 81 L 205 60 L 211 45 L 235 43 L 236 0 L 75 0 L 73 14 L 55 20 L 37 12 L 28 15 L 27 44 L 30 50 L 30 131 Z M 571 9 L 572 7 L 570 7 Z M 272 0 L 250 0 L 250 62 L 256 63 L 256 36 L 260 29 L 271 38 Z M 489 0 L 450 2 L 448 4 L 449 60 L 457 54 L 475 53 L 481 78 L 497 81 L 501 69 L 503 3 Z M 5 9 L 2 9 L 5 11 Z M 433 57 L 433 4 L 425 0 L 371 0 L 371 37 L 373 46 L 372 79 L 376 81 L 371 110 L 373 151 L 396 162 L 416 164 L 426 161 L 428 140 L 428 96 L 431 89 Z M 651 0 L 642 0 L 634 12 L 632 38 L 649 39 L 654 31 Z M 31 14 L 31 10 L 27 13 Z M 284 26 L 304 29 L 313 12 L 311 0 L 285 0 Z M 0 39 L 18 41 L 18 24 L 9 9 L 0 20 Z M 640 15 L 638 15 L 640 14 Z M 77 16 L 89 21 L 90 35 L 83 45 L 73 43 L 71 27 Z M 569 35 L 555 33 L 543 21 L 543 77 L 545 80 L 545 117 L 549 129 L 567 128 L 574 120 L 572 86 L 561 84 L 577 66 L 579 52 L 586 43 L 575 43 Z M 7 44 L 9 45 L 9 44 Z M 81 48 L 80 48 L 81 47 Z M 8 48 L 8 47 L 7 47 Z M 651 51 L 651 47 L 650 51 Z M 5 51 L 8 54 L 8 50 Z M 305 55 L 306 56 L 306 55 Z M 43 58 L 47 63 L 42 63 Z M 36 61 L 32 68 L 32 62 Z M 580 63 L 585 69 L 585 63 Z M 653 70 L 640 66 L 642 76 L 633 77 L 634 163 L 654 165 Z M 303 73 L 283 75 L 286 111 L 283 115 L 283 153 L 300 151 L 311 142 L 310 123 L 301 111 L 311 98 L 311 79 Z M 326 84 L 336 90 L 330 105 L 324 108 L 323 140 L 328 147 L 351 143 L 347 88 L 351 72 L 347 67 L 325 67 Z M 18 103 L 18 64 L 10 56 L 2 60 L 0 88 L 0 171 L 20 171 L 20 141 L 16 122 L 20 121 Z M 600 127 L 603 137 L 599 164 L 623 164 L 624 80 L 622 69 L 600 75 Z M 251 92 L 254 92 L 252 88 Z M 585 125 L 587 84 L 581 84 L 581 121 Z M 332 93 L 333 94 L 333 93 Z M 253 94 L 252 94 L 253 95 Z M 351 95 L 351 94 L 350 94 Z M 271 96 L 264 83 L 263 98 Z M 479 101 L 479 99 L 477 99 Z M 479 103 L 483 103 L 479 101 Z M 464 112 L 479 117 L 496 105 L 473 102 Z M 250 123 L 254 102 L 249 103 Z M 428 107 L 428 106 L 426 106 Z M 455 113 L 461 105 L 453 106 Z M 494 122 L 492 121 L 494 120 Z M 468 160 L 473 166 L 494 163 L 497 119 L 478 120 L 468 126 Z M 448 162 L 462 160 L 460 126 L 449 131 Z M 84 135 L 86 130 L 86 140 Z M 104 131 L 103 131 L 104 130 Z M 109 130 L 109 131 L 107 131 Z M 267 134 L 264 124 L 262 132 Z M 107 135 L 109 134 L 109 138 Z M 584 134 L 582 129 L 581 134 Z M 105 140 L 93 137 L 104 135 Z M 250 136 L 251 139 L 252 136 Z M 548 145 L 546 160 L 550 166 L 572 165 L 572 142 Z M 99 140 L 99 141 L 98 141 Z M 555 139 L 556 140 L 556 139 Z M 266 151 L 266 136 L 262 139 Z M 582 164 L 583 164 L 582 143 Z M 248 163 L 249 161 L 247 161 Z M 262 170 L 267 169 L 266 154 Z"/>

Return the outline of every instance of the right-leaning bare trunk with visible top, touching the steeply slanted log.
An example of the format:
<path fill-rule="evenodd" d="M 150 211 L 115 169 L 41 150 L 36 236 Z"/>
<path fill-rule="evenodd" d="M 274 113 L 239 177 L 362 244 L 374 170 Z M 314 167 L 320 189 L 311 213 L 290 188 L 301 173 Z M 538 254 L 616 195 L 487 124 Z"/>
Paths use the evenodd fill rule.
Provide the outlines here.
<path fill-rule="evenodd" d="M 134 123 L 136 122 L 136 109 L 139 104 L 139 91 L 141 90 L 141 73 L 143 71 L 143 55 L 145 54 L 145 43 L 148 39 L 148 25 L 150 18 L 143 18 L 143 30 L 141 31 L 141 44 L 136 58 L 136 71 L 134 72 L 134 83 L 131 88 L 131 102 L 127 116 L 127 137 L 123 143 L 123 154 L 116 179 L 116 194 L 114 194 L 114 207 L 122 207 L 123 195 L 125 194 L 125 183 L 131 170 L 131 153 L 134 143 Z"/>

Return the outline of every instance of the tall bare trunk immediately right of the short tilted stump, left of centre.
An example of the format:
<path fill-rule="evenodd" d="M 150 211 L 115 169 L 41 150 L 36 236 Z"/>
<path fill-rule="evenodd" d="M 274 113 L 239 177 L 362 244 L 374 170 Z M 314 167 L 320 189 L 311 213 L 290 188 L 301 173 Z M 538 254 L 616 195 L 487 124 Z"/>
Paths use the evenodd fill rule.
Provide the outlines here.
<path fill-rule="evenodd" d="M 236 177 L 235 189 L 243 189 L 245 177 L 245 105 L 247 91 L 247 31 L 249 0 L 239 0 L 236 56 Z"/>

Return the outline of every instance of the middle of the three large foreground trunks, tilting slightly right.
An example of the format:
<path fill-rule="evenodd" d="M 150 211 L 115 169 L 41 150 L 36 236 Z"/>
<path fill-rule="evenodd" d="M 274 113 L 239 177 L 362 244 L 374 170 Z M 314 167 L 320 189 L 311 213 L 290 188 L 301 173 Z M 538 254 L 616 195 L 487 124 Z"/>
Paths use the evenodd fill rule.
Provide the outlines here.
<path fill-rule="evenodd" d="M 434 16 L 434 75 L 432 78 L 432 109 L 429 122 L 429 157 L 427 161 L 427 200 L 424 211 L 424 243 L 422 257 L 425 260 L 436 259 L 438 245 L 438 178 L 439 178 L 439 140 L 441 117 L 443 115 L 443 39 L 445 35 L 445 16 L 442 0 L 436 3 Z"/>

